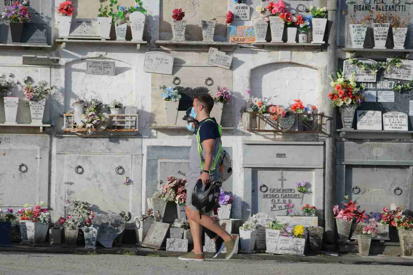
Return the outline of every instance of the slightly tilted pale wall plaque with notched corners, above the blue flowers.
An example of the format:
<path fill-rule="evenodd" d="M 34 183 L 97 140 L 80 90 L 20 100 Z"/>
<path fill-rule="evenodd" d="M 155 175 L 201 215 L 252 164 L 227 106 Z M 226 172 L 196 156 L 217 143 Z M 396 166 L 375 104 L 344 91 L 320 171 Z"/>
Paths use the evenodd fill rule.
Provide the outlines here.
<path fill-rule="evenodd" d="M 145 63 L 143 69 L 147 73 L 172 74 L 173 56 L 164 52 L 145 53 Z"/>

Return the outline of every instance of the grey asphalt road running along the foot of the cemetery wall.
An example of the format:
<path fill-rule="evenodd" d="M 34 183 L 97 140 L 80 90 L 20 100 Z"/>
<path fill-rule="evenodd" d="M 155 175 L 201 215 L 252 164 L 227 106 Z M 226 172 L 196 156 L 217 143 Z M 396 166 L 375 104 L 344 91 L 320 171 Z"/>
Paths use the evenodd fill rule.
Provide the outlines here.
<path fill-rule="evenodd" d="M 349 265 L 171 257 L 73 254 L 0 254 L 1 275 L 389 275 L 412 274 L 411 266 Z"/>

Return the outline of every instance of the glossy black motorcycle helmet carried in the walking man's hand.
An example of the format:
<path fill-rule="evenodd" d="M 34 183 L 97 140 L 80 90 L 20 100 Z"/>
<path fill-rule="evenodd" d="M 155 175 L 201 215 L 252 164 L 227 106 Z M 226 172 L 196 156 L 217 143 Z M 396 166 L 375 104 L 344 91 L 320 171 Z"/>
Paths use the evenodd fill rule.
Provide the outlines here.
<path fill-rule="evenodd" d="M 199 219 L 202 213 L 211 212 L 218 204 L 219 193 L 221 192 L 221 181 L 212 182 L 202 191 L 202 180 L 199 179 L 192 190 L 192 205 L 199 210 Z"/>

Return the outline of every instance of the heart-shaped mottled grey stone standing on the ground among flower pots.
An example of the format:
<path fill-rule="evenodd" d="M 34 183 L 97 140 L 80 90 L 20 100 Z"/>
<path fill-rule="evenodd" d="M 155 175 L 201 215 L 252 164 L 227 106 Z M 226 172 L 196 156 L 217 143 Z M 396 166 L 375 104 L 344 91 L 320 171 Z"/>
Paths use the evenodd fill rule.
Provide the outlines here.
<path fill-rule="evenodd" d="M 116 214 L 97 214 L 92 223 L 99 226 L 97 241 L 104 247 L 112 247 L 113 241 L 125 229 L 125 220 Z"/>

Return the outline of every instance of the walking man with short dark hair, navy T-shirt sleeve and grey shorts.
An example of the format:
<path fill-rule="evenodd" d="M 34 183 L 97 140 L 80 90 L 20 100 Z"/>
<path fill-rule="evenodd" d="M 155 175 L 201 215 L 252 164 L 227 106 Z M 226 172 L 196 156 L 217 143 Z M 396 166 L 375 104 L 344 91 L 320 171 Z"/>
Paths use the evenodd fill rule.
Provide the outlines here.
<path fill-rule="evenodd" d="M 233 237 L 228 234 L 210 216 L 205 214 L 200 216 L 199 210 L 192 205 L 192 190 L 199 179 L 202 180 L 205 186 L 220 178 L 217 162 L 220 157 L 218 153 L 221 136 L 215 119 L 209 116 L 212 107 L 214 107 L 214 100 L 209 95 L 196 96 L 193 101 L 193 109 L 199 123 L 192 136 L 190 149 L 186 216 L 190 223 L 194 249 L 190 253 L 179 257 L 180 260 L 184 261 L 204 261 L 205 256 L 202 252 L 202 226 L 216 234 L 214 238 L 216 243 L 219 243 L 219 239 L 221 238 L 224 241 L 224 244 L 217 248 L 214 257 L 218 256 L 225 246 L 227 249 L 225 259 L 230 259 L 237 249 L 235 244 L 237 244 L 238 237 Z M 202 157 L 199 154 L 199 150 L 202 152 Z"/>

